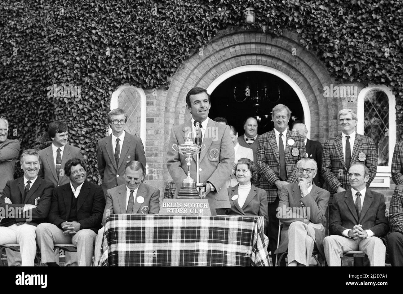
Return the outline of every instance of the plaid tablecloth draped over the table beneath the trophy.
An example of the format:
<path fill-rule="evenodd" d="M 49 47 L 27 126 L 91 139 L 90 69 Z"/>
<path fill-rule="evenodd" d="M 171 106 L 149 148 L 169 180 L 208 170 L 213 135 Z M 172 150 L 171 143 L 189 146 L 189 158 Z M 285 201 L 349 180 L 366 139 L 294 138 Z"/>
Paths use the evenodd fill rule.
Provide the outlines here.
<path fill-rule="evenodd" d="M 112 214 L 100 266 L 268 266 L 262 216 Z"/>

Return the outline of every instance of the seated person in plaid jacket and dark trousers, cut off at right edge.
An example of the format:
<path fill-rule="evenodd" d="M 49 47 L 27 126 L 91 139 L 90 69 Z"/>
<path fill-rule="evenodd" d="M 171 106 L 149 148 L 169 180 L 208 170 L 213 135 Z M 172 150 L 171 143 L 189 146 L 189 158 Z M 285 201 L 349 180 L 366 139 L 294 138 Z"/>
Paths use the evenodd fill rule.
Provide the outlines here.
<path fill-rule="evenodd" d="M 391 234 L 388 235 L 389 260 L 393 267 L 403 266 L 403 185 L 397 185 L 393 191 L 389 207 L 389 224 Z"/>

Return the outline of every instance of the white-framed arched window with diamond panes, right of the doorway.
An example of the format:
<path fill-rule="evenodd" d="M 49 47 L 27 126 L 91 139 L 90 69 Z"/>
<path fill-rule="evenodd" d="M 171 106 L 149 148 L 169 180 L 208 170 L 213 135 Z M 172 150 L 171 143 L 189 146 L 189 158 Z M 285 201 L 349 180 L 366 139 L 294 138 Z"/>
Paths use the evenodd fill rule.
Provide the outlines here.
<path fill-rule="evenodd" d="M 366 87 L 357 97 L 357 132 L 374 139 L 378 169 L 371 187 L 389 187 L 396 143 L 395 96 L 385 85 Z"/>

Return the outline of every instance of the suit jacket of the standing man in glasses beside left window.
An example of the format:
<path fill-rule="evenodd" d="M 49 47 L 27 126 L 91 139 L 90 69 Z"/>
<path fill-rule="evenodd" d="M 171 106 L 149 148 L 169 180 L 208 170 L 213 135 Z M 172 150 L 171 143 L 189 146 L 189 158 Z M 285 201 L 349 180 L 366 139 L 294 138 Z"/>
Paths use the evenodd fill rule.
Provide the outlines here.
<path fill-rule="evenodd" d="M 120 143 L 120 157 L 116 164 L 112 146 L 112 135 L 98 141 L 98 170 L 102 178 L 102 189 L 106 190 L 125 184 L 123 173 L 129 161 L 140 161 L 145 169 L 144 146 L 139 137 L 125 133 L 123 143 Z"/>

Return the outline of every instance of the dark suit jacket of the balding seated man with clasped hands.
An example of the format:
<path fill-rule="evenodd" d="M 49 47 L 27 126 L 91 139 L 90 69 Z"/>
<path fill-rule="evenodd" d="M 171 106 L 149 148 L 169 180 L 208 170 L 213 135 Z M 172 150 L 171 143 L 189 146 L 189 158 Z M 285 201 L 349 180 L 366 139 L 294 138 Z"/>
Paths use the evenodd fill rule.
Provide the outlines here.
<path fill-rule="evenodd" d="M 334 194 L 329 218 L 330 235 L 343 236 L 344 230 L 352 230 L 358 224 L 362 225 L 364 230 L 369 229 L 374 232 L 375 237 L 385 241 L 383 237 L 389 230 L 389 224 L 383 194 L 367 188 L 359 219 L 357 211 L 355 211 L 351 188 Z"/>

